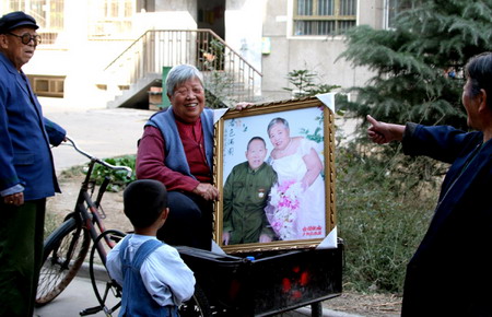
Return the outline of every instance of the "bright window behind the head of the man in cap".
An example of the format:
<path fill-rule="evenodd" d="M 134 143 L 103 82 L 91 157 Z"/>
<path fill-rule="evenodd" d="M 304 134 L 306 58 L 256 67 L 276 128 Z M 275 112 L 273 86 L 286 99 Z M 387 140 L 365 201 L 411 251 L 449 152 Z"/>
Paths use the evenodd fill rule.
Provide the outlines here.
<path fill-rule="evenodd" d="M 63 31 L 65 0 L 3 0 L 5 12 L 24 11 L 32 15 L 42 36 L 42 44 L 55 43 L 58 33 Z"/>

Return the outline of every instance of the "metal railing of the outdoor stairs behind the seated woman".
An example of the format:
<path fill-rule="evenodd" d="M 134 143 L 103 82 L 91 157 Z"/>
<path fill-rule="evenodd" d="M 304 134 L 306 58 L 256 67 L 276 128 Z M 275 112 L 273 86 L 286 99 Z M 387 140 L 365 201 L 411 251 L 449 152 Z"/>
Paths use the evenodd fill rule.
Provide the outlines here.
<path fill-rule="evenodd" d="M 227 102 L 253 101 L 262 74 L 211 30 L 147 31 L 105 69 L 110 82 L 130 87 L 163 67 L 195 64 L 206 89 Z"/>

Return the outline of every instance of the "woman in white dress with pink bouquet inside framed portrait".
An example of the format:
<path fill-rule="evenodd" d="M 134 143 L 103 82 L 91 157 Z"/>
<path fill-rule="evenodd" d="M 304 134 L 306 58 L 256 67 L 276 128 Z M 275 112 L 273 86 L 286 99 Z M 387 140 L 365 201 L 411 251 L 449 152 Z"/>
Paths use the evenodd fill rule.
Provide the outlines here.
<path fill-rule="evenodd" d="M 269 163 L 278 175 L 266 209 L 280 239 L 325 237 L 325 183 L 318 143 L 291 137 L 289 122 L 274 118 L 267 128 L 273 145 Z"/>

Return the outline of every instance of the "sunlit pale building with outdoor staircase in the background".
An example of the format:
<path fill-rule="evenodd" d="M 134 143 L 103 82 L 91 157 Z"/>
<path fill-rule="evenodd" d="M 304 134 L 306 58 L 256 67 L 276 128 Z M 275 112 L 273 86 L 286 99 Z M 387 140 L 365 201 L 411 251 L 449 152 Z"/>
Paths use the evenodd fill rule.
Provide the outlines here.
<path fill-rule="evenodd" d="M 212 94 L 289 98 L 286 75 L 363 85 L 371 73 L 337 58 L 344 28 L 387 27 L 398 0 L 0 0 L 33 15 L 43 43 L 24 67 L 38 95 L 72 106 L 148 105 L 163 72 L 188 62 Z M 292 87 L 292 86 L 291 86 Z"/>

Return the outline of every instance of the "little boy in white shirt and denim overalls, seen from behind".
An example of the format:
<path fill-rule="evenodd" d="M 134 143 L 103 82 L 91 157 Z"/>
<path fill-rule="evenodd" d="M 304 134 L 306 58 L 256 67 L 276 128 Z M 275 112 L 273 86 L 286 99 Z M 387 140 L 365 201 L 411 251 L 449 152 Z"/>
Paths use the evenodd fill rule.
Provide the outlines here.
<path fill-rule="evenodd" d="M 179 316 L 195 292 L 194 272 L 178 251 L 157 240 L 167 219 L 167 191 L 153 179 L 131 183 L 124 192 L 125 214 L 134 228 L 108 254 L 106 267 L 122 285 L 119 316 Z"/>

